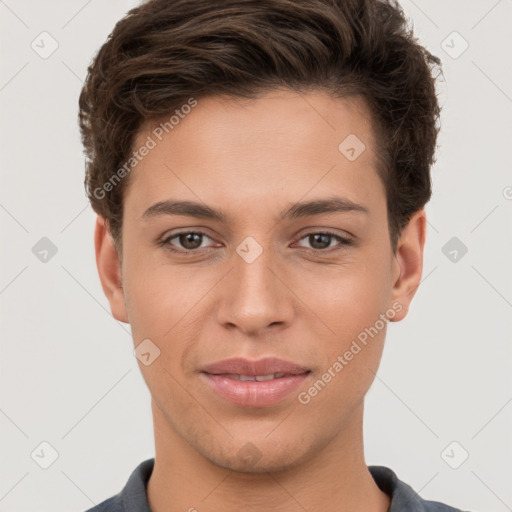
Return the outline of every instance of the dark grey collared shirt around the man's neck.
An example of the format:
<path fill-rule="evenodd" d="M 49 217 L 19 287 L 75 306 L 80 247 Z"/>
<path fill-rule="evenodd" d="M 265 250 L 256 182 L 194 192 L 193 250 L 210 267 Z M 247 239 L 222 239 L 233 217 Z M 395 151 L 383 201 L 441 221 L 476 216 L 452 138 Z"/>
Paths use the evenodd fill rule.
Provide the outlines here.
<path fill-rule="evenodd" d="M 86 512 L 151 512 L 146 484 L 153 471 L 155 459 L 141 462 L 130 475 L 123 490 Z M 462 512 L 438 501 L 422 499 L 413 489 L 398 479 L 385 466 L 368 466 L 375 483 L 391 497 L 388 512 Z"/>

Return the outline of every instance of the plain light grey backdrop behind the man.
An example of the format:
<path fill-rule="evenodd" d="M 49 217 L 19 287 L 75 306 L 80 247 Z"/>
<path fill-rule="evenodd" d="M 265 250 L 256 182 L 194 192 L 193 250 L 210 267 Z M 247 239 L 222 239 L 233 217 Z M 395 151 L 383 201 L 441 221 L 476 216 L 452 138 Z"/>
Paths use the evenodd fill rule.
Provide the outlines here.
<path fill-rule="evenodd" d="M 1 511 L 83 511 L 154 455 L 130 329 L 111 317 L 96 273 L 76 120 L 88 63 L 136 3 L 0 0 Z M 409 316 L 390 325 L 367 397 L 367 463 L 391 467 L 424 498 L 504 512 L 512 510 L 512 1 L 403 6 L 443 60 L 444 111 L 424 279 Z M 43 31 L 59 45 L 46 59 L 31 48 L 34 40 L 50 48 Z M 469 43 L 457 58 L 464 41 L 453 31 Z M 442 252 L 454 236 L 468 248 L 456 262 Z M 47 262 L 32 252 L 42 237 L 58 249 Z M 31 458 L 43 441 L 59 454 L 48 469 Z M 458 469 L 441 455 L 452 441 L 469 453 Z M 460 450 L 448 449 L 452 464 Z"/>

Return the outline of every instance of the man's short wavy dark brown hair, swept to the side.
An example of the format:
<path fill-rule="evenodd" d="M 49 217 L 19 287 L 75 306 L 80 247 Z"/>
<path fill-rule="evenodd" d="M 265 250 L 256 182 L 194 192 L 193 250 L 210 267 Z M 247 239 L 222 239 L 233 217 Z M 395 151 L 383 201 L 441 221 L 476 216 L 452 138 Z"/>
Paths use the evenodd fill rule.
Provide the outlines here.
<path fill-rule="evenodd" d="M 357 95 L 378 134 L 396 249 L 431 196 L 439 65 L 391 0 L 149 0 L 116 24 L 80 94 L 89 200 L 119 241 L 128 177 L 112 177 L 143 123 L 190 98 L 253 98 L 279 86 Z"/>

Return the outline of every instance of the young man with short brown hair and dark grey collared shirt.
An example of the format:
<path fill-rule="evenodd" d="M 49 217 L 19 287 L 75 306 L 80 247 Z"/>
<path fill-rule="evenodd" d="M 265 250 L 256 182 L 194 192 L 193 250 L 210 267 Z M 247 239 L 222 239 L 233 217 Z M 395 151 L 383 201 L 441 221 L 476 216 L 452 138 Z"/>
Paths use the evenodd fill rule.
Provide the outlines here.
<path fill-rule="evenodd" d="M 154 459 L 92 511 L 453 511 L 368 467 L 364 397 L 422 274 L 439 64 L 377 0 L 152 0 L 80 97 Z"/>

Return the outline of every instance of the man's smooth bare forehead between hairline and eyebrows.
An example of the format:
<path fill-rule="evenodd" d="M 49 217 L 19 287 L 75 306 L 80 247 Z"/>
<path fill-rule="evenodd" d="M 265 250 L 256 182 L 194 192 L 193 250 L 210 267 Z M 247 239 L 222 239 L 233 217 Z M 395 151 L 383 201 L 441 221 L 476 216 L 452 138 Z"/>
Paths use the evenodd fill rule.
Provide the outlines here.
<path fill-rule="evenodd" d="M 334 191 L 364 203 L 384 193 L 370 113 L 359 98 L 284 89 L 198 99 L 146 123 L 134 150 L 144 145 L 151 150 L 131 171 L 125 195 L 141 213 L 166 196 L 229 209 L 279 208 L 283 199 Z"/>

